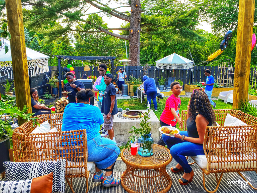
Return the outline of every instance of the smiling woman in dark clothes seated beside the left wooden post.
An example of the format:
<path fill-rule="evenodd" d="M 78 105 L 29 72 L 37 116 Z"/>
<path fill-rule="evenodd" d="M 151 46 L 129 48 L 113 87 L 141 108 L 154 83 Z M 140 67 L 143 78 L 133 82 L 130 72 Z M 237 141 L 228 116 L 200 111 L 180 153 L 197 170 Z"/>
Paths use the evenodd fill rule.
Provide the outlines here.
<path fill-rule="evenodd" d="M 40 102 L 38 102 L 38 91 L 34 88 L 30 89 L 30 99 L 31 99 L 32 113 L 35 113 L 32 117 L 52 113 L 51 108 L 48 108 L 44 104 L 41 104 Z"/>

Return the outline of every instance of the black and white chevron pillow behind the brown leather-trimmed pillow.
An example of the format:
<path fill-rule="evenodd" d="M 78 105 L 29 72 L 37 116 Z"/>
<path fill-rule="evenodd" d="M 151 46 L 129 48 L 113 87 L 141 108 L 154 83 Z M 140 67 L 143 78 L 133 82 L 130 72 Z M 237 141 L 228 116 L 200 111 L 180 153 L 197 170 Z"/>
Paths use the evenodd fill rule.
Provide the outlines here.
<path fill-rule="evenodd" d="M 33 179 L 53 172 L 53 193 L 65 191 L 65 159 L 57 162 L 4 162 L 3 165 L 7 181 Z"/>

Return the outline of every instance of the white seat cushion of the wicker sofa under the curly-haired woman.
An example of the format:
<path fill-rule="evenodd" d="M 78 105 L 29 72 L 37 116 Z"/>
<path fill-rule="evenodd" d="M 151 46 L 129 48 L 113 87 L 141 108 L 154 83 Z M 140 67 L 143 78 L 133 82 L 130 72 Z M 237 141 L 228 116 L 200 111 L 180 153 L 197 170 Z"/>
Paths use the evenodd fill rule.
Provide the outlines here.
<path fill-rule="evenodd" d="M 210 167 L 212 169 L 247 169 L 247 168 L 256 168 L 257 165 L 257 161 L 248 161 L 248 162 L 228 162 L 228 163 L 222 163 L 221 161 L 227 161 L 227 160 L 242 160 L 242 159 L 247 159 L 247 157 L 249 157 L 250 159 L 250 155 L 243 155 L 243 154 L 239 154 L 239 155 L 235 155 L 235 154 L 230 154 L 228 157 L 218 157 L 219 160 L 218 163 L 211 163 Z M 252 154 L 251 158 L 253 160 L 257 160 L 256 154 Z M 197 156 L 193 156 L 192 159 L 194 159 L 194 161 L 197 163 L 197 165 L 200 168 L 203 169 L 207 169 L 207 159 L 205 155 L 197 155 Z M 214 160 L 215 161 L 215 160 Z"/>

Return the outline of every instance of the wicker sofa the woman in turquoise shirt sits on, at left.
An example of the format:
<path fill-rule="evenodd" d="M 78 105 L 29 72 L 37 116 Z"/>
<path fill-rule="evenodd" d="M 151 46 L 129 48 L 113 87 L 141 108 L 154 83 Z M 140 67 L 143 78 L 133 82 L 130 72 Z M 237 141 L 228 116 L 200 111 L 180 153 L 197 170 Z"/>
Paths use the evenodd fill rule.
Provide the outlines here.
<path fill-rule="evenodd" d="M 92 168 L 93 162 L 89 162 L 91 165 L 88 166 L 86 129 L 61 131 L 62 115 L 45 114 L 38 116 L 40 124 L 48 120 L 51 129 L 57 128 L 58 132 L 31 134 L 37 127 L 31 121 L 17 127 L 13 133 L 14 160 L 15 162 L 40 162 L 66 159 L 65 179 L 72 192 L 74 193 L 72 178 L 77 177 L 86 178 L 86 192 L 88 192 L 89 170 Z M 71 146 L 71 142 L 77 145 Z M 80 153 L 66 153 L 66 150 L 72 149 L 77 149 L 77 152 Z M 82 155 L 82 153 L 84 154 Z M 71 178 L 71 182 L 68 178 Z"/>

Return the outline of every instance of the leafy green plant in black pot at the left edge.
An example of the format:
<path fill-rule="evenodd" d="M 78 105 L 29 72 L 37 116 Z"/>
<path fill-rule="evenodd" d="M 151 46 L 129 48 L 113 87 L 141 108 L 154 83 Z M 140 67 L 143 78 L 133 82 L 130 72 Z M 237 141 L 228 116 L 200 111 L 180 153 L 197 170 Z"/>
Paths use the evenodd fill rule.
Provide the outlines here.
<path fill-rule="evenodd" d="M 0 101 L 0 173 L 4 171 L 3 162 L 10 161 L 9 149 L 10 142 L 12 143 L 13 130 L 11 122 L 14 118 L 23 118 L 27 120 L 33 120 L 34 124 L 39 125 L 36 121 L 37 117 L 32 117 L 32 113 L 26 113 L 29 107 L 24 106 L 22 110 L 18 109 L 15 103 L 15 97 L 8 95 L 1 95 L 2 100 Z M 5 119 L 3 116 L 8 116 Z M 2 119 L 1 119 L 2 118 Z"/>

